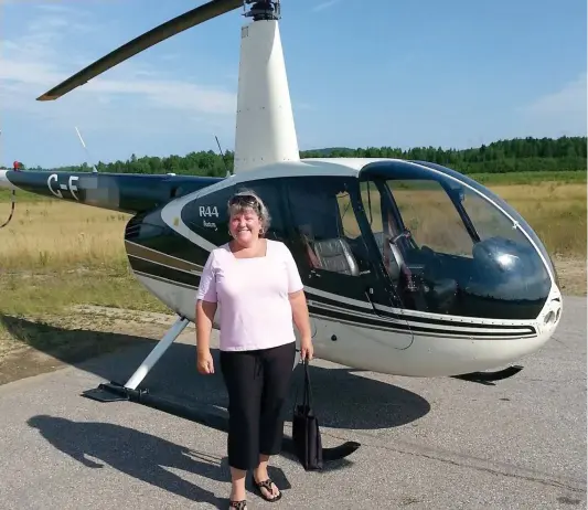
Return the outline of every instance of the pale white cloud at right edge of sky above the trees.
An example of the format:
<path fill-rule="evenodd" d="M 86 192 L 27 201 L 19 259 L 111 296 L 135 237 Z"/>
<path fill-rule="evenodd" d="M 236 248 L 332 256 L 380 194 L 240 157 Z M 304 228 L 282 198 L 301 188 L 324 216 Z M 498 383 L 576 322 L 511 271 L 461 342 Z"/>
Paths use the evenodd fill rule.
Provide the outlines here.
<path fill-rule="evenodd" d="M 587 74 L 559 91 L 539 97 L 523 109 L 525 117 L 547 136 L 586 134 Z"/>

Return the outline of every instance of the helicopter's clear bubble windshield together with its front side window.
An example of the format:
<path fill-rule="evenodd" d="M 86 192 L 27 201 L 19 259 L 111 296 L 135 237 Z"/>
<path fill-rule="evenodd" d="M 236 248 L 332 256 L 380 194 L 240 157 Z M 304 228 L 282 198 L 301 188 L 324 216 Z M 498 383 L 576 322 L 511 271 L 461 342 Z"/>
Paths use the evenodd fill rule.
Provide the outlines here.
<path fill-rule="evenodd" d="M 539 256 L 546 252 L 520 215 L 513 222 L 494 204 L 507 211 L 503 201 L 404 161 L 370 164 L 361 176 L 367 222 L 407 308 L 496 319 L 539 315 L 552 286 Z"/>

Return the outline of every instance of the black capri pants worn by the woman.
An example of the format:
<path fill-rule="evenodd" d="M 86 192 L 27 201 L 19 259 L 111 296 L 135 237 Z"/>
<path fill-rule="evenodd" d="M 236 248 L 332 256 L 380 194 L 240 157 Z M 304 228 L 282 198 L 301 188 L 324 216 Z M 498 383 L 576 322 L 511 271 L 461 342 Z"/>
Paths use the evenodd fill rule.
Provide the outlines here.
<path fill-rule="evenodd" d="M 254 469 L 259 465 L 259 454 L 279 454 L 282 408 L 295 355 L 296 342 L 255 351 L 221 351 L 221 371 L 228 392 L 231 467 Z"/>

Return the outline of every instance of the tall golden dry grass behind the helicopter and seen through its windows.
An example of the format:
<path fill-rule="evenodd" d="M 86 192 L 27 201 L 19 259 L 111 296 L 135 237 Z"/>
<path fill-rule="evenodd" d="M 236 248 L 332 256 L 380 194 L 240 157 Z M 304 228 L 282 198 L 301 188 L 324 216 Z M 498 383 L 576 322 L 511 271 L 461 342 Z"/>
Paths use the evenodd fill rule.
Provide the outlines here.
<path fill-rule="evenodd" d="M 528 221 L 550 254 L 586 259 L 585 184 L 548 182 L 489 188 Z M 420 236 L 423 244 L 438 244 L 442 241 L 436 241 L 436 236 L 451 234 L 455 238 L 446 243 L 467 244 L 456 210 L 438 191 L 403 190 L 397 192 L 397 199 L 417 242 Z M 485 210 L 481 211 L 478 204 L 472 202 L 468 210 L 478 224 L 495 220 L 484 217 Z M 0 203 L 0 222 L 9 212 L 9 204 Z M 57 200 L 18 203 L 12 222 L 0 230 L 0 270 L 124 269 L 127 259 L 122 241 L 129 219 L 128 214 Z"/>

